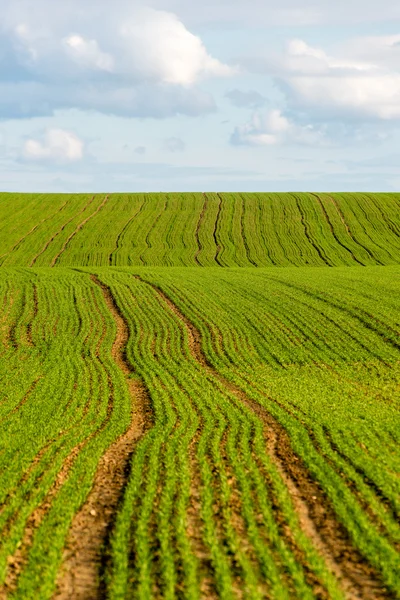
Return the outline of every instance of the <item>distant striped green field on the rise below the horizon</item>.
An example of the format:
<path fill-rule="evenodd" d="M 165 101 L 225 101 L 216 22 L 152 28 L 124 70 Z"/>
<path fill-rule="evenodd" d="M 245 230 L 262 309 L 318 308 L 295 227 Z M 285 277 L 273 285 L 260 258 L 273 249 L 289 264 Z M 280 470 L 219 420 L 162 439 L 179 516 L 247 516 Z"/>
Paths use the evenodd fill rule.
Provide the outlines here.
<path fill-rule="evenodd" d="M 400 194 L 0 194 L 1 266 L 400 263 Z"/>

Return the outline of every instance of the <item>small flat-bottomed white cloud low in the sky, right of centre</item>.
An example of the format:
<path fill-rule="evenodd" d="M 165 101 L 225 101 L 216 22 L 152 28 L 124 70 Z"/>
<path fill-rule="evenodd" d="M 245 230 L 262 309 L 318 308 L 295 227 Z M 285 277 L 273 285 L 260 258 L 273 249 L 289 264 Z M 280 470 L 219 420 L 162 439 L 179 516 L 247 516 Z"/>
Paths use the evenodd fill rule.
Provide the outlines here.
<path fill-rule="evenodd" d="M 324 140 L 322 131 L 314 126 L 296 125 L 280 110 L 271 110 L 267 114 L 254 112 L 247 123 L 235 128 L 230 142 L 234 146 L 275 146 L 286 143 L 317 145 Z"/>

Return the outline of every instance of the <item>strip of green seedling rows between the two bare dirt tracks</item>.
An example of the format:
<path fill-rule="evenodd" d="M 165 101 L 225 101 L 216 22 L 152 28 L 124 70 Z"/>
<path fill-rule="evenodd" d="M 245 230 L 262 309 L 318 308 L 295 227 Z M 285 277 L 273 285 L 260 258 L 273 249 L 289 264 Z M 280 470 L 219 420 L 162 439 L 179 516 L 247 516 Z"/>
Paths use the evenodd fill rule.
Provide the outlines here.
<path fill-rule="evenodd" d="M 201 431 L 196 455 L 201 477 L 201 516 L 204 542 L 209 548 L 219 597 L 235 597 L 235 583 L 242 586 L 242 592 L 249 598 L 264 597 L 263 582 L 269 586 L 273 597 L 313 597 L 302 565 L 297 562 L 274 519 L 269 486 L 260 470 L 260 460 L 273 481 L 282 513 L 295 531 L 296 542 L 306 553 L 307 563 L 322 579 L 331 597 L 342 597 L 324 562 L 301 532 L 286 488 L 266 454 L 258 418 L 191 357 L 183 325 L 177 322 L 176 317 L 168 315 L 168 307 L 149 286 L 135 282 L 131 275 L 126 275 L 124 279 L 120 274 L 113 278 L 105 274 L 100 277 L 110 285 L 130 323 L 131 331 L 135 332 L 128 356 L 149 387 L 155 408 L 155 426 L 135 455 L 132 479 L 117 521 L 115 560 L 110 573 L 111 597 L 123 597 L 127 593 L 130 569 L 128 560 L 123 557 L 129 555 L 131 544 L 135 548 L 133 556 L 136 567 L 131 575 L 134 589 L 130 591 L 133 597 L 148 597 L 157 583 L 161 585 L 162 597 L 176 597 L 179 562 L 184 558 L 179 538 L 187 538 L 185 522 L 190 497 L 189 447 L 199 421 Z M 172 397 L 173 407 L 178 414 L 169 414 Z M 150 462 L 152 458 L 154 463 Z M 180 471 L 176 470 L 178 460 Z M 161 496 L 157 504 L 159 519 L 156 535 L 162 552 L 155 555 L 151 548 L 151 526 L 154 526 L 152 514 L 154 518 L 160 462 L 164 464 L 163 480 L 166 478 L 166 484 L 163 491 L 159 492 Z M 251 553 L 256 557 L 255 562 L 243 549 L 243 540 L 232 524 L 228 465 L 240 489 L 246 538 Z M 150 466 L 154 471 L 150 470 Z M 172 513 L 174 498 L 175 512 Z M 220 507 L 217 519 L 214 515 L 215 506 Z M 260 511 L 261 523 L 257 519 Z M 127 533 L 129 523 L 133 529 L 131 539 Z M 178 536 L 174 535 L 174 528 L 179 531 Z M 183 547 L 190 547 L 190 543 L 190 539 L 186 539 Z M 178 546 L 178 554 L 181 550 L 180 557 L 176 555 L 175 545 Z M 156 556 L 160 556 L 161 573 L 152 572 Z M 201 585 L 198 575 L 195 576 L 199 569 L 198 559 L 193 552 L 188 556 L 193 566 L 190 569 L 183 566 L 184 594 L 185 597 L 198 598 L 201 597 Z"/>

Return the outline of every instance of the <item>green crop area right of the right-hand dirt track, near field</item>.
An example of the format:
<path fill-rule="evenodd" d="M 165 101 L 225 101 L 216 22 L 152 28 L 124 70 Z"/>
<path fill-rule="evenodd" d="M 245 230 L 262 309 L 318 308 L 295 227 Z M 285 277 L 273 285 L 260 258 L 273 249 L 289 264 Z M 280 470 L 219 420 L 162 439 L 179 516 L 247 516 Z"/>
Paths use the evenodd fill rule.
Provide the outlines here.
<path fill-rule="evenodd" d="M 282 424 L 365 572 L 398 597 L 399 272 L 316 273 L 141 277 L 196 324 L 207 361 Z"/>

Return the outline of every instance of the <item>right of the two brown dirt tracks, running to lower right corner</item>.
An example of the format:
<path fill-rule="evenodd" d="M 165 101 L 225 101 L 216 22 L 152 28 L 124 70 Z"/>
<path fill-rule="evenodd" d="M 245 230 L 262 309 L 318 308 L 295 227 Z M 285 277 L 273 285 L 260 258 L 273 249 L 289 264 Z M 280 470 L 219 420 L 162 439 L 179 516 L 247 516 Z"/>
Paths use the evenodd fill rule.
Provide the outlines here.
<path fill-rule="evenodd" d="M 136 278 L 140 279 L 139 276 Z M 148 281 L 145 283 L 154 289 L 161 301 L 184 325 L 193 358 L 262 420 L 267 451 L 290 492 L 300 526 L 337 578 L 344 596 L 348 600 L 389 599 L 390 593 L 384 588 L 379 575 L 352 545 L 346 530 L 337 521 L 326 494 L 293 452 L 290 438 L 283 426 L 264 407 L 208 363 L 202 350 L 200 331 L 160 288 Z"/>

